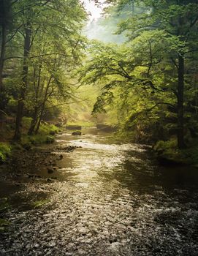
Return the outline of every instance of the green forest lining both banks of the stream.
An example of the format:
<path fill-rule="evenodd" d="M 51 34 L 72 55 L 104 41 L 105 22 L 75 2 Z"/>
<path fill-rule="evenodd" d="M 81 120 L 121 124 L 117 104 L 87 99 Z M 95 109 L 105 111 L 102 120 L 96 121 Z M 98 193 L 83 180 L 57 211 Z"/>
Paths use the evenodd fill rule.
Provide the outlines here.
<path fill-rule="evenodd" d="M 1 121 L 15 121 L 1 140 L 70 116 L 84 86 L 89 112 L 120 135 L 196 163 L 197 1 L 109 1 L 98 39 L 83 33 L 87 19 L 79 1 L 1 0 Z"/>

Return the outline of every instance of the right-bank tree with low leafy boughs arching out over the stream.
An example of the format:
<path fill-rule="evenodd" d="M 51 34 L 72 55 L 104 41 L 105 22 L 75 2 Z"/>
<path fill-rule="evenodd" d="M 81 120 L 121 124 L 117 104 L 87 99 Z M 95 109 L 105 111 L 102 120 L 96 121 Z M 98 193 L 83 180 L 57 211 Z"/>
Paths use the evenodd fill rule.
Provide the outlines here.
<path fill-rule="evenodd" d="M 124 45 L 126 50 L 119 56 L 120 48 L 115 46 L 112 53 L 111 47 L 107 46 L 108 50 L 103 50 L 93 58 L 94 65 L 88 65 L 88 72 L 91 74 L 92 70 L 92 75 L 96 78 L 92 79 L 92 83 L 108 75 L 110 83 L 107 81 L 104 89 L 121 86 L 121 83 L 122 86 L 128 84 L 128 88 L 139 86 L 140 89 L 145 87 L 147 91 L 153 89 L 153 95 L 157 97 L 151 102 L 155 106 L 166 105 L 172 116 L 177 114 L 178 148 L 183 148 L 188 127 L 185 123 L 186 106 L 189 104 L 184 100 L 186 89 L 189 88 L 186 82 L 186 63 L 191 62 L 192 53 L 197 51 L 197 1 L 121 0 L 113 1 L 113 4 L 118 7 L 119 13 L 127 12 L 118 27 L 118 33 L 125 32 L 128 37 L 128 42 Z M 133 7 L 129 8 L 131 4 Z M 140 70 L 140 67 L 146 69 L 134 76 L 133 72 Z M 98 71 L 94 73 L 94 69 Z M 124 78 L 124 81 L 118 80 L 115 74 Z M 86 76 L 88 81 L 91 81 L 90 77 L 91 75 Z M 188 83 L 191 82 L 188 80 Z M 97 107 L 105 102 L 105 97 L 108 99 L 110 96 L 104 89 Z M 151 98 L 149 94 L 150 92 L 148 98 Z M 163 102 L 162 95 L 163 98 L 166 97 Z M 172 120 L 175 122 L 175 118 Z"/>

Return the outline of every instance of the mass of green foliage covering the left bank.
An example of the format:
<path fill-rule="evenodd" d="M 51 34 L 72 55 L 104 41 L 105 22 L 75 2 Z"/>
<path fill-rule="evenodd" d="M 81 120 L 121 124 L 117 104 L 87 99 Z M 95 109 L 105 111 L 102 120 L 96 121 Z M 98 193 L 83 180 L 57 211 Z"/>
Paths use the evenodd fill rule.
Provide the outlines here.
<path fill-rule="evenodd" d="M 42 119 L 57 116 L 59 105 L 74 96 L 70 78 L 83 57 L 86 40 L 81 31 L 86 13 L 77 0 L 39 0 L 34 4 L 23 0 L 8 6 L 5 14 L 10 11 L 13 19 L 10 29 L 6 28 L 4 47 L 0 40 L 0 60 L 4 61 L 0 72 L 1 77 L 6 73 L 3 82 L 9 99 L 4 108 L 17 113 L 16 137 L 20 137 L 18 123 L 23 113 L 34 117 L 31 134 L 39 130 Z"/>

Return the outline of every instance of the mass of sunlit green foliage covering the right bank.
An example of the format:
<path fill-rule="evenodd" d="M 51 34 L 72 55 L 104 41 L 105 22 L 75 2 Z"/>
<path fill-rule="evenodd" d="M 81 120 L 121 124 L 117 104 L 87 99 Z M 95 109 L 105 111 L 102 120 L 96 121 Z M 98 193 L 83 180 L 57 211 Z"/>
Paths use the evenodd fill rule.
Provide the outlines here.
<path fill-rule="evenodd" d="M 122 45 L 91 42 L 80 77 L 81 83 L 101 89 L 93 112 L 116 108 L 122 133 L 134 141 L 177 135 L 181 148 L 184 135 L 198 132 L 197 2 L 110 2 L 123 18 L 117 33 L 128 40 Z"/>

